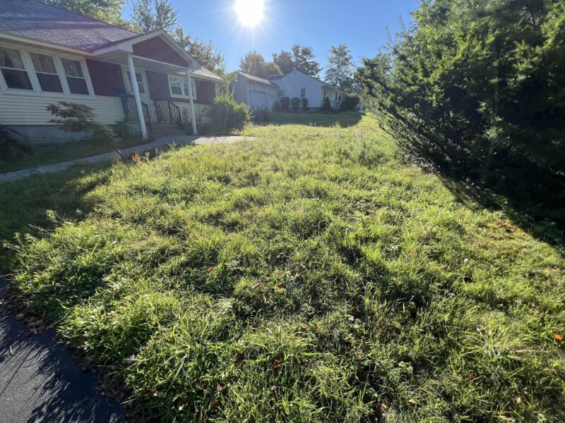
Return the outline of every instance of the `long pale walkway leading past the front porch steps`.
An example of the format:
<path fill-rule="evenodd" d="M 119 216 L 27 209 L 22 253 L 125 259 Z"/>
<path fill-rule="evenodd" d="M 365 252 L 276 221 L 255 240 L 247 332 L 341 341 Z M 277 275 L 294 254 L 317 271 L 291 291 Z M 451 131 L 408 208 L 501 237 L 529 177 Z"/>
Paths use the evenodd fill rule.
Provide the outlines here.
<path fill-rule="evenodd" d="M 157 138 L 157 140 L 153 142 L 148 142 L 147 144 L 143 144 L 143 145 L 137 145 L 136 147 L 121 149 L 120 151 L 121 154 L 124 154 L 124 157 L 129 157 L 132 154 L 136 154 L 136 152 L 142 154 L 153 149 L 166 149 L 173 142 L 177 145 L 225 144 L 230 142 L 238 142 L 242 140 L 251 140 L 251 139 L 252 138 L 250 137 L 241 137 L 241 136 L 200 137 L 198 135 L 182 135 L 180 137 Z M 63 161 L 61 163 L 48 164 L 46 166 L 40 166 L 37 168 L 23 169 L 21 171 L 0 173 L 0 182 L 27 178 L 28 176 L 37 175 L 40 173 L 53 173 L 53 172 L 64 171 L 65 169 L 70 168 L 71 166 L 75 166 L 77 164 L 90 164 L 90 163 L 98 163 L 100 161 L 112 161 L 114 160 L 115 156 L 116 156 L 115 152 L 107 152 L 102 154 L 96 154 L 95 156 L 84 157 L 83 159 Z"/>

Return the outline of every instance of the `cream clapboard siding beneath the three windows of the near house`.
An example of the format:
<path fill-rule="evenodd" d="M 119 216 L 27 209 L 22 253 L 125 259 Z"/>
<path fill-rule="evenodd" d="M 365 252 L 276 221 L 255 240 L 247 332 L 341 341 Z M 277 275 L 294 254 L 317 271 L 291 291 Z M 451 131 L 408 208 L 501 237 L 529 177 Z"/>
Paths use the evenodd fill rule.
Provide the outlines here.
<path fill-rule="evenodd" d="M 51 97 L 0 92 L 0 125 L 48 125 L 52 116 L 46 109 L 47 105 L 61 101 L 92 107 L 97 121 L 107 125 L 124 118 L 124 108 L 119 97 Z"/>

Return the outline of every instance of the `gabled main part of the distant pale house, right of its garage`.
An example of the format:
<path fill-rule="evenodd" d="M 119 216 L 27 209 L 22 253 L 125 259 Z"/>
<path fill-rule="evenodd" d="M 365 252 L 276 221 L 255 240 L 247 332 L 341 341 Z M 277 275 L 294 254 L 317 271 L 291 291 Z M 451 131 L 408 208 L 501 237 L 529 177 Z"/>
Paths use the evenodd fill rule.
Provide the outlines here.
<path fill-rule="evenodd" d="M 329 97 L 330 104 L 334 109 L 339 109 L 341 102 L 345 99 L 345 92 L 326 82 L 307 75 L 295 69 L 286 75 L 273 75 L 269 77 L 270 82 L 278 85 L 278 100 L 282 97 L 307 98 L 310 108 L 318 108 L 324 99 Z"/>

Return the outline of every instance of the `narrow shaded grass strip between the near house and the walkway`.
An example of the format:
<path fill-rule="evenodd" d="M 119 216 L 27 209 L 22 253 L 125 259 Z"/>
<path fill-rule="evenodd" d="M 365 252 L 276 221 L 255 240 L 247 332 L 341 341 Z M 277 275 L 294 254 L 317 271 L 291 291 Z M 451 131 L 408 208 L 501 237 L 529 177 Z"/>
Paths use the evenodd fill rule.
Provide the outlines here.
<path fill-rule="evenodd" d="M 118 145 L 119 148 L 128 148 L 142 145 L 143 143 L 143 140 L 131 137 L 127 140 L 119 141 Z M 111 151 L 112 147 L 99 145 L 88 140 L 33 145 L 30 147 L 29 152 L 21 152 L 18 157 L 11 159 L 0 158 L 0 173 L 35 168 L 47 164 L 60 163 L 61 161 L 82 159 L 83 157 Z"/>

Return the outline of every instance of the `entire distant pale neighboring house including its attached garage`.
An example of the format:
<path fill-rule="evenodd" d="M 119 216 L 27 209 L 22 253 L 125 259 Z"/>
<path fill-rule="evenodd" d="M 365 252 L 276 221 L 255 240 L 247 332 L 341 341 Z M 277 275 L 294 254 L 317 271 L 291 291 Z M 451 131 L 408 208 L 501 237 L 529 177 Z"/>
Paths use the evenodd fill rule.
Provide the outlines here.
<path fill-rule="evenodd" d="M 235 100 L 247 104 L 251 110 L 270 111 L 282 97 L 307 98 L 310 109 L 318 109 L 328 97 L 331 107 L 339 109 L 346 95 L 338 88 L 296 69 L 287 75 L 273 75 L 268 79 L 237 72 L 237 80 L 232 87 Z"/>

